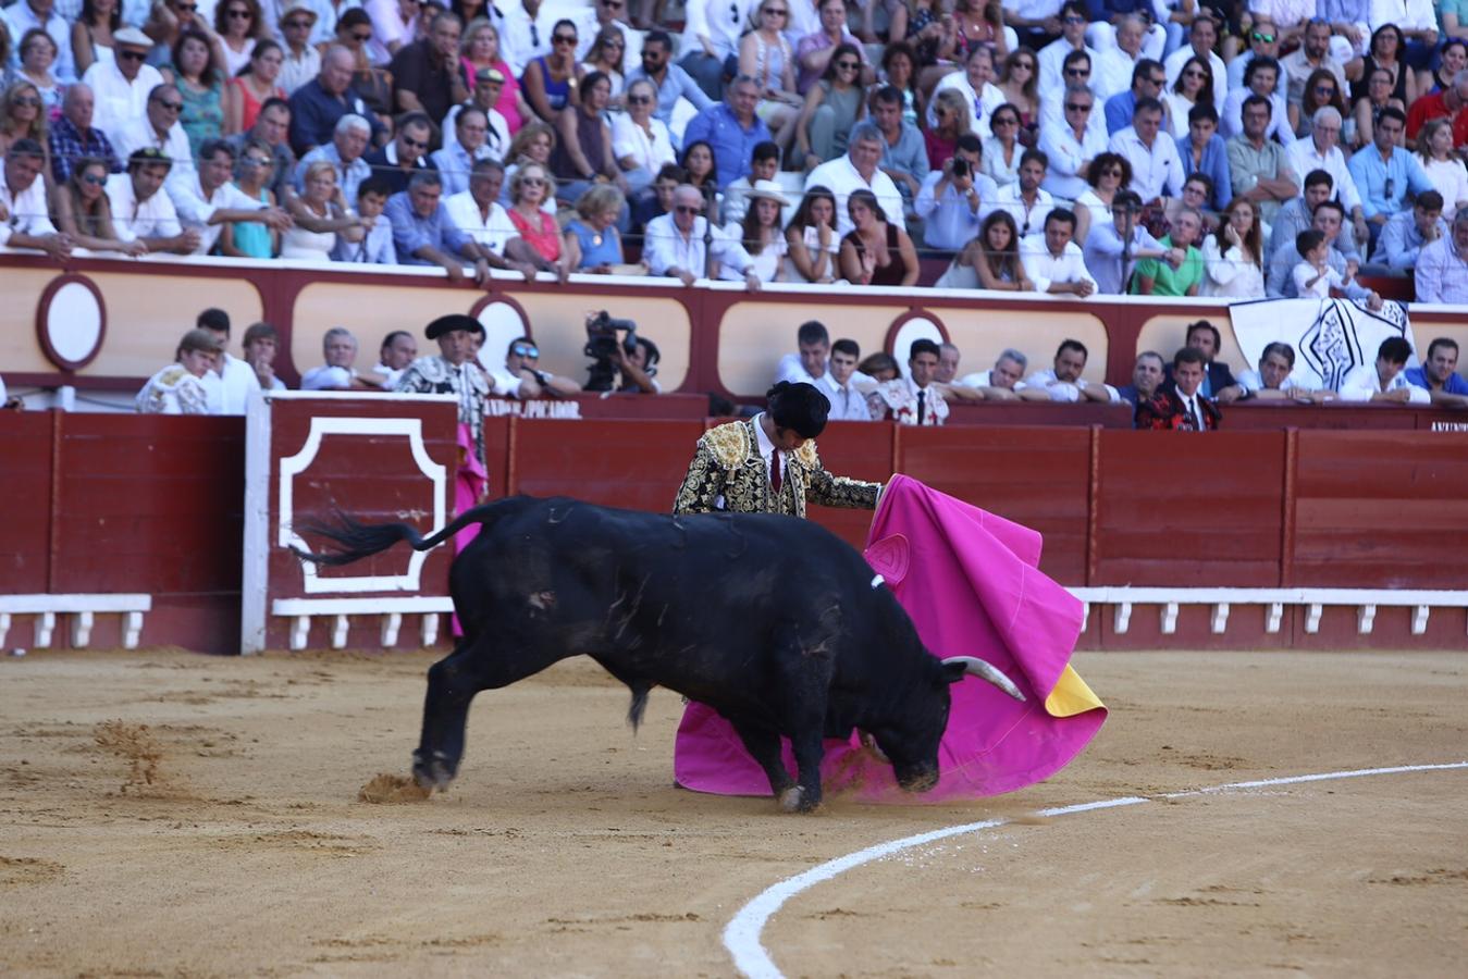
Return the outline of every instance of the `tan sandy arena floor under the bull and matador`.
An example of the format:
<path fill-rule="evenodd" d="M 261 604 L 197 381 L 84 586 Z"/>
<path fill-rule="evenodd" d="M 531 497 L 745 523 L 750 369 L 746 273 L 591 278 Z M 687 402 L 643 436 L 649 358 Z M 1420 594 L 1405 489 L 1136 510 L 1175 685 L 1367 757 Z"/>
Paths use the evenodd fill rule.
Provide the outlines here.
<path fill-rule="evenodd" d="M 427 655 L 50 653 L 0 662 L 0 973 L 728 976 L 769 885 L 941 826 L 797 895 L 787 976 L 1461 976 L 1468 771 L 1091 813 L 1122 796 L 1468 759 L 1458 655 L 1082 655 L 1111 707 L 1047 784 L 969 806 L 672 787 L 678 699 L 636 738 L 589 662 L 482 694 L 459 781 L 407 774 Z M 148 781 L 151 778 L 151 781 Z"/>

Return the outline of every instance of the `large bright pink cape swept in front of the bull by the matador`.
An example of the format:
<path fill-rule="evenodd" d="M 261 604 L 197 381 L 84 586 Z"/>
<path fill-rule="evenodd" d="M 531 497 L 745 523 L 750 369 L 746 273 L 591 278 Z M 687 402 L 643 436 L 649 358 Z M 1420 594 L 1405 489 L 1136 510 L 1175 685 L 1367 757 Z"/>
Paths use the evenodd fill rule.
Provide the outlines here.
<path fill-rule="evenodd" d="M 821 772 L 826 791 L 862 801 L 937 803 L 997 796 L 1048 778 L 1101 729 L 1105 707 L 1089 696 L 1070 716 L 1054 716 L 1055 690 L 1076 637 L 1080 602 L 1041 574 L 1041 536 L 970 506 L 906 476 L 882 493 L 868 537 L 866 559 L 912 616 L 923 644 L 940 658 L 979 656 L 1025 693 L 1019 703 L 978 677 L 953 685 L 953 710 L 938 751 L 938 785 L 904 793 L 891 765 L 849 741 L 828 740 Z M 785 768 L 796 774 L 790 741 Z M 724 796 L 769 796 L 769 779 L 744 750 L 733 725 L 702 703 L 690 703 L 674 754 L 678 785 Z"/>

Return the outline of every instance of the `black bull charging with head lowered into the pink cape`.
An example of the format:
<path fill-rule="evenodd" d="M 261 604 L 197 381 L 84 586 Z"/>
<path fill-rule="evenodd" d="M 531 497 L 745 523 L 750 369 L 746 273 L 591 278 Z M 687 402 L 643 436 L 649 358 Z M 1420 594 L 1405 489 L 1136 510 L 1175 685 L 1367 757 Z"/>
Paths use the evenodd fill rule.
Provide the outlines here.
<path fill-rule="evenodd" d="M 407 540 L 426 550 L 468 524 L 482 533 L 449 572 L 464 628 L 429 669 L 420 785 L 443 788 L 464 754 L 468 705 L 584 655 L 631 688 L 642 719 L 653 687 L 718 710 L 769 775 L 785 809 L 821 801 L 822 737 L 859 728 L 900 785 L 938 779 L 948 685 L 975 674 L 1023 699 L 995 668 L 938 660 L 871 567 L 822 527 L 790 517 L 666 517 L 573 499 L 517 496 L 468 511 L 429 539 L 408 524 L 314 525 L 348 564 Z M 800 771 L 791 781 L 780 735 Z"/>

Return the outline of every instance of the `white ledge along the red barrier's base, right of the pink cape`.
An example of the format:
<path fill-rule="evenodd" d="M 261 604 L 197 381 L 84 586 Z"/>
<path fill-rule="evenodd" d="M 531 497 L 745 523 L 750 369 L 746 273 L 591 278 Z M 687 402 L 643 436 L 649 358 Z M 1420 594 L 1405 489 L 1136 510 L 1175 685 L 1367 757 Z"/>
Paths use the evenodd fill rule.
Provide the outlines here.
<path fill-rule="evenodd" d="M 1213 606 L 1210 628 L 1223 636 L 1229 628 L 1229 609 L 1235 605 L 1262 605 L 1265 608 L 1264 631 L 1279 633 L 1284 618 L 1284 606 L 1305 608 L 1305 631 L 1320 631 L 1320 616 L 1327 605 L 1343 605 L 1356 609 L 1356 633 L 1370 636 L 1376 625 L 1378 606 L 1411 608 L 1412 636 L 1427 633 L 1427 619 L 1434 608 L 1468 608 L 1468 592 L 1428 592 L 1393 589 L 1133 589 L 1100 587 L 1070 589 L 1085 603 L 1085 622 L 1091 621 L 1092 605 L 1113 608 L 1111 631 L 1126 634 L 1132 622 L 1132 609 L 1138 605 L 1160 606 L 1161 633 L 1177 631 L 1177 609 L 1183 605 Z"/>

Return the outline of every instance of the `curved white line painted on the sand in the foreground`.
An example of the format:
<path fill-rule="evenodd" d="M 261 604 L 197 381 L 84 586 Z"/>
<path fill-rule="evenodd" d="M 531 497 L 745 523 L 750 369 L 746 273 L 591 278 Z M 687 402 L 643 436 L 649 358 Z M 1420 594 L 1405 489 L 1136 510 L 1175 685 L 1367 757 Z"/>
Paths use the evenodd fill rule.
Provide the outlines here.
<path fill-rule="evenodd" d="M 1075 813 L 1095 812 L 1098 809 L 1119 809 L 1122 806 L 1139 806 L 1142 803 L 1152 801 L 1152 798 L 1186 798 L 1189 796 L 1208 796 L 1213 793 L 1227 793 L 1245 788 L 1268 788 L 1276 785 L 1298 785 L 1302 782 L 1327 782 L 1340 778 L 1365 778 L 1368 775 L 1403 775 L 1409 772 L 1443 772 L 1453 769 L 1468 769 L 1468 762 L 1445 762 L 1439 765 L 1396 765 L 1393 768 L 1361 768 L 1348 772 L 1317 772 L 1312 775 L 1290 775 L 1286 778 L 1262 778 L 1251 782 L 1229 782 L 1226 785 L 1210 785 L 1205 788 L 1191 788 L 1183 793 L 1163 793 L 1155 797 L 1147 796 L 1123 796 L 1120 798 L 1102 798 L 1094 803 L 1079 803 L 1075 806 L 1058 806 L 1054 809 L 1039 810 L 1041 816 L 1072 816 Z M 942 829 L 932 829 L 929 832 L 918 834 L 916 837 L 903 837 L 901 840 L 890 840 L 887 842 L 878 842 L 865 850 L 857 850 L 856 853 L 849 853 L 844 857 L 837 857 L 835 860 L 826 860 L 825 863 L 810 867 L 804 873 L 797 873 L 793 878 L 785 878 L 778 884 L 762 891 L 749 904 L 738 910 L 730 923 L 724 928 L 724 947 L 728 948 L 730 956 L 734 957 L 734 967 L 750 979 L 784 979 L 784 973 L 775 966 L 775 961 L 765 951 L 765 945 L 760 944 L 760 932 L 765 931 L 765 925 L 771 917 L 788 901 L 802 891 L 807 891 L 816 884 L 829 881 L 831 878 L 840 876 L 847 870 L 859 867 L 872 860 L 879 860 L 888 857 L 894 853 L 901 853 L 903 850 L 912 850 L 913 847 L 922 847 L 929 842 L 937 842 L 938 840 L 947 840 L 950 837 L 962 837 L 970 832 L 981 832 L 984 829 L 995 829 L 1014 822 L 1013 819 L 985 819 L 984 822 L 970 822 L 960 826 L 945 826 Z"/>

